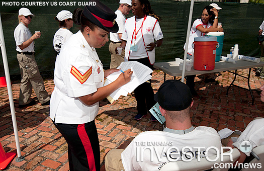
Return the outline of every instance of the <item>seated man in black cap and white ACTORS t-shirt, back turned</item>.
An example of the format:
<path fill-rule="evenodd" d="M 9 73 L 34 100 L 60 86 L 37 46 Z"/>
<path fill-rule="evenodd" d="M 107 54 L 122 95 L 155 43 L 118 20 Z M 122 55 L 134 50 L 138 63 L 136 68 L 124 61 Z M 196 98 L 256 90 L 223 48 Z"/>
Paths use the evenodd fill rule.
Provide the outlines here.
<path fill-rule="evenodd" d="M 125 150 L 111 150 L 105 157 L 107 171 L 155 171 L 169 161 L 205 157 L 208 147 L 214 147 L 208 151 L 208 156 L 217 154 L 216 150 L 221 152 L 220 137 L 215 129 L 192 126 L 190 110 L 194 101 L 185 83 L 166 80 L 154 99 L 159 103 L 160 112 L 166 119 L 166 128 L 163 131 L 139 134 Z"/>

